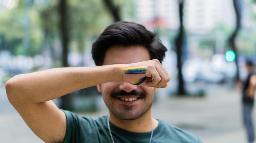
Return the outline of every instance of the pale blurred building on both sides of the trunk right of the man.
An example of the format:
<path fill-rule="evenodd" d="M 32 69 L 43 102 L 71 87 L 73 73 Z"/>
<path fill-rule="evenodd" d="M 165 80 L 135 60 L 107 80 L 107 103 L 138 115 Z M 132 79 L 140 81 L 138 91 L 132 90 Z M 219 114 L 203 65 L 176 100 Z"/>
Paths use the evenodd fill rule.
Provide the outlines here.
<path fill-rule="evenodd" d="M 179 28 L 179 0 L 135 0 L 142 24 L 160 21 L 167 29 Z M 207 32 L 218 24 L 234 26 L 232 0 L 184 0 L 184 26 L 191 32 Z"/>

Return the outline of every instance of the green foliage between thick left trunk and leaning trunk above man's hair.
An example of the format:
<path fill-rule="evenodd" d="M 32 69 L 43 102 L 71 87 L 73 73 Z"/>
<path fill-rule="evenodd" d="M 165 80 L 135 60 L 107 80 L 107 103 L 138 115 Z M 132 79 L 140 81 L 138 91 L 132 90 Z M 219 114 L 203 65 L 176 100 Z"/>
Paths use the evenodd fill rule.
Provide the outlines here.
<path fill-rule="evenodd" d="M 85 38 L 99 35 L 101 27 L 111 23 L 111 17 L 106 15 L 101 0 L 70 0 L 69 6 L 71 41 L 77 46 L 73 49 L 83 52 Z"/>

